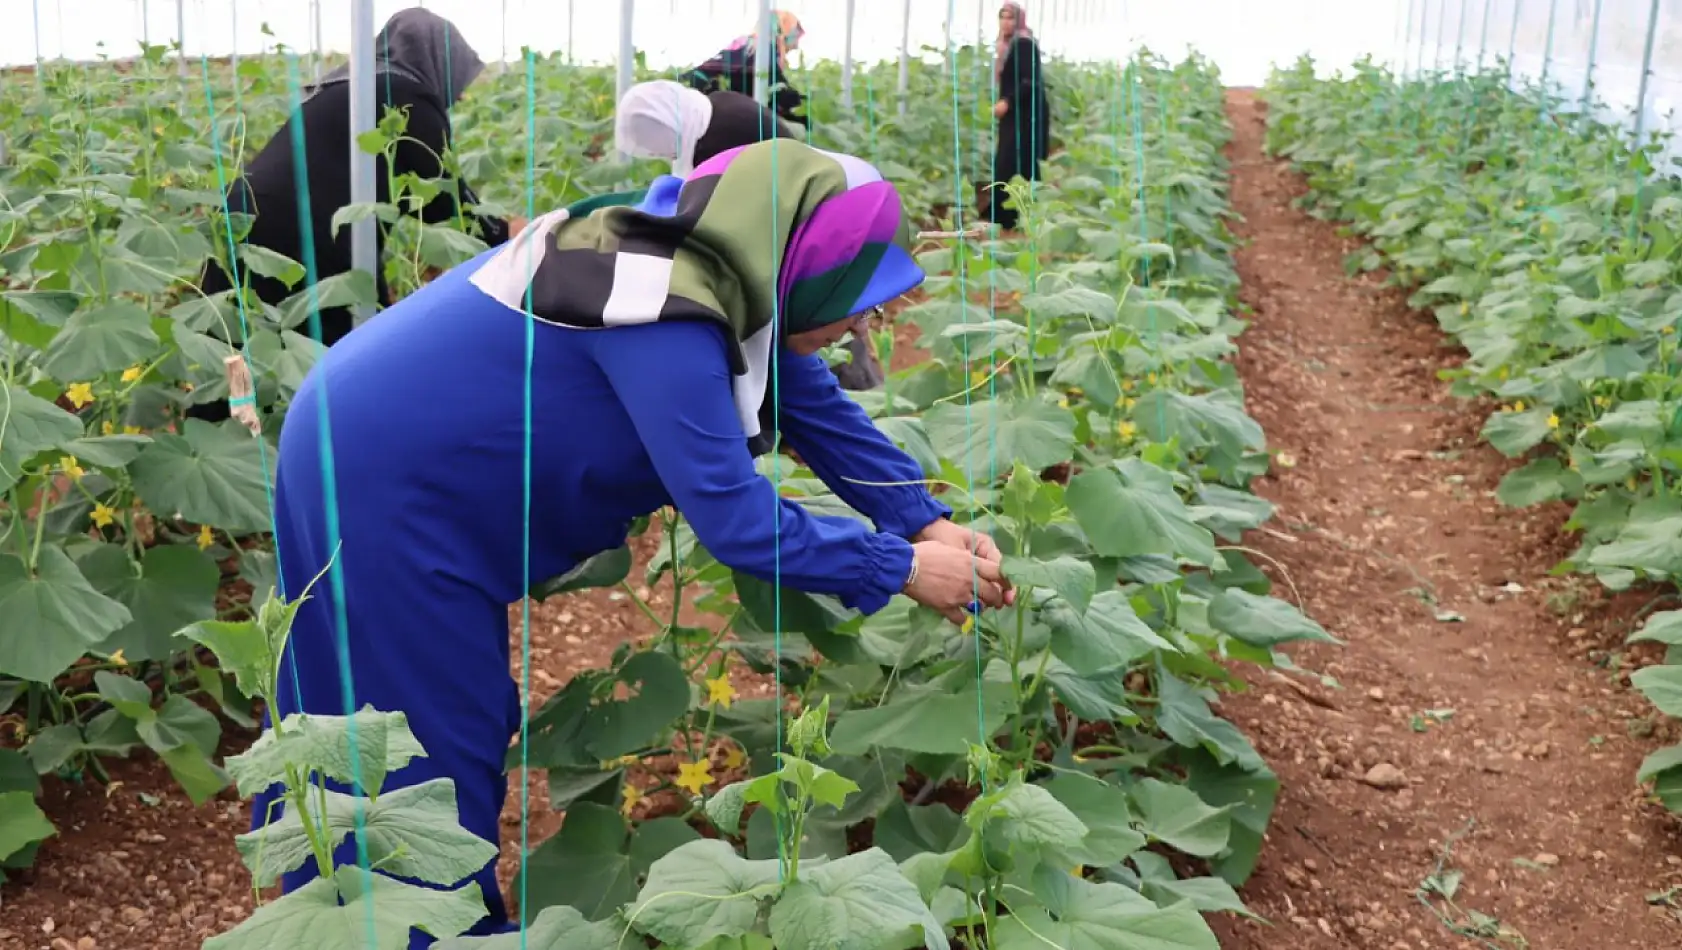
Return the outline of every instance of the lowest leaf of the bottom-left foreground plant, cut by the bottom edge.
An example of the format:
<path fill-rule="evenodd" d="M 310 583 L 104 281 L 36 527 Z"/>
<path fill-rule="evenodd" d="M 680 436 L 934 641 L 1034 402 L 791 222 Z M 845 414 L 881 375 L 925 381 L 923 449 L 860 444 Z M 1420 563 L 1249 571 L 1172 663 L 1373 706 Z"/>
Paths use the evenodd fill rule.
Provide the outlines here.
<path fill-rule="evenodd" d="M 456 937 L 484 913 L 478 884 L 436 891 L 378 873 L 365 874 L 362 868 L 340 868 L 331 879 L 316 878 L 259 906 L 234 930 L 205 940 L 204 950 L 407 950 L 409 928 Z"/>

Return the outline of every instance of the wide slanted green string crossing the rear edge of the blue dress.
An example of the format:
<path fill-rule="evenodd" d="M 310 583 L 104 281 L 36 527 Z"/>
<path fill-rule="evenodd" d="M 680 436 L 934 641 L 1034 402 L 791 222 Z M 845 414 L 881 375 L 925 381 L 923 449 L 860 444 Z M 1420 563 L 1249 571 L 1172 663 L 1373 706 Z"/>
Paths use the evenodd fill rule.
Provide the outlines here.
<path fill-rule="evenodd" d="M 303 266 L 304 266 L 304 286 L 309 301 L 309 335 L 316 341 L 316 358 L 326 348 L 321 343 L 321 296 L 316 286 L 316 254 L 315 254 L 315 217 L 309 214 L 309 165 L 308 150 L 304 148 L 304 123 L 303 123 L 303 99 L 299 96 L 299 77 L 298 77 L 298 55 L 286 54 L 286 92 L 291 104 L 293 114 L 293 183 L 298 190 L 298 232 L 303 239 Z M 340 523 L 338 523 L 338 479 L 335 478 L 333 464 L 333 422 L 328 412 L 328 385 L 326 375 L 320 378 L 321 395 L 316 400 L 320 407 L 318 420 L 321 425 L 320 442 L 321 442 L 321 488 L 326 496 L 326 550 L 338 552 L 340 548 Z M 328 562 L 328 583 L 333 590 L 333 625 L 336 632 L 336 651 L 338 651 L 338 681 L 340 689 L 345 698 L 345 726 L 350 735 L 350 780 L 352 780 L 352 799 L 355 810 L 355 834 L 357 834 L 357 866 L 362 868 L 362 886 L 370 900 L 363 901 L 367 913 L 363 915 L 368 928 L 368 945 L 378 947 L 378 930 L 373 921 L 373 869 L 368 864 L 368 814 L 367 799 L 362 797 L 362 750 L 357 743 L 357 691 L 352 684 L 350 671 L 350 619 L 345 610 L 345 563 L 343 557 L 333 557 Z M 299 699 L 303 699 L 299 696 Z M 299 701 L 299 708 L 303 703 Z"/>

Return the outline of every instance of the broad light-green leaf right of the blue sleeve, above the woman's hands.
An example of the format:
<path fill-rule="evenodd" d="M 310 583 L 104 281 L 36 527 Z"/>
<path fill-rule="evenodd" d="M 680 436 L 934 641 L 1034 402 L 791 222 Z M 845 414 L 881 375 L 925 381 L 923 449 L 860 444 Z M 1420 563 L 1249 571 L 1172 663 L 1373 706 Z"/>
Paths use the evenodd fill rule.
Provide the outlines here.
<path fill-rule="evenodd" d="M 928 441 L 964 472 L 986 478 L 1013 461 L 1039 471 L 1075 457 L 1075 415 L 1045 400 L 942 402 L 923 415 Z"/>

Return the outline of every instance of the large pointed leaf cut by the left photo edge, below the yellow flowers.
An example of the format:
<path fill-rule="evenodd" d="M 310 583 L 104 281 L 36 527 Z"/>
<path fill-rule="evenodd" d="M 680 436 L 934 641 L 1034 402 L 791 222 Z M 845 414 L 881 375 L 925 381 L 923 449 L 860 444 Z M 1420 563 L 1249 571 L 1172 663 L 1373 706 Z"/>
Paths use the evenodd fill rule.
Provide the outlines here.
<path fill-rule="evenodd" d="M 35 577 L 0 555 L 0 674 L 52 683 L 84 652 L 133 617 L 87 583 L 56 546 L 40 548 Z"/>

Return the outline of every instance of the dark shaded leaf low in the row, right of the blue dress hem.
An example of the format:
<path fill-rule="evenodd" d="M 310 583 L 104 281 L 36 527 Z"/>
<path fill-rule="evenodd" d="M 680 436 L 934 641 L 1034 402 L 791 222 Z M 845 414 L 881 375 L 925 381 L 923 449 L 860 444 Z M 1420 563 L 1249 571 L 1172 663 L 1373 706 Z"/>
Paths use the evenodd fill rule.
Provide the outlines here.
<path fill-rule="evenodd" d="M 700 837 L 673 817 L 632 832 L 617 809 L 577 802 L 567 809 L 560 832 L 532 851 L 521 869 L 523 886 L 537 906 L 567 905 L 587 920 L 604 920 L 636 900 L 649 866 Z"/>

